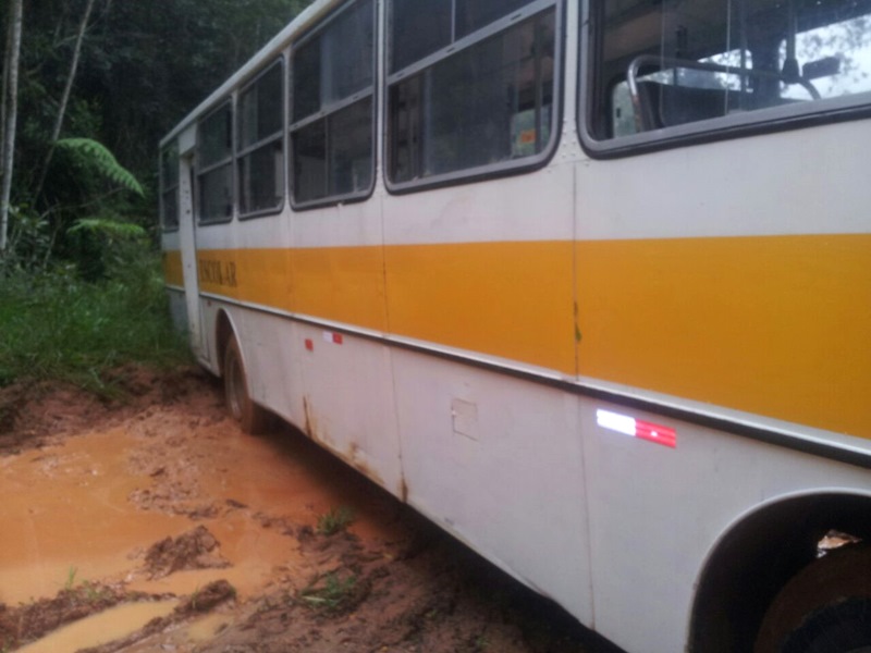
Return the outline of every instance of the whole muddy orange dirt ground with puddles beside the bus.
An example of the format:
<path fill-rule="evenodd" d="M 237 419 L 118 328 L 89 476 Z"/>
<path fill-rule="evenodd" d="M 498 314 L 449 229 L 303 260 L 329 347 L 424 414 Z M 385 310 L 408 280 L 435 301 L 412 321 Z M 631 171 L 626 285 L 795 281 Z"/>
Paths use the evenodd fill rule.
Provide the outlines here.
<path fill-rule="evenodd" d="M 197 369 L 0 390 L 0 651 L 612 651 Z"/>

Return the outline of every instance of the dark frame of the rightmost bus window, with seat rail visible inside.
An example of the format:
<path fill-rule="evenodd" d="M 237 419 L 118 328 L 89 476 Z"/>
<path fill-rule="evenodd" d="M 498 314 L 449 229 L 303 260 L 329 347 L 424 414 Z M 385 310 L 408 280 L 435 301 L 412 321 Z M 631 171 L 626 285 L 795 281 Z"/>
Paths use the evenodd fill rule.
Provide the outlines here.
<path fill-rule="evenodd" d="M 616 159 L 871 118 L 871 91 L 863 91 L 813 102 L 781 104 L 732 113 L 627 136 L 601 137 L 597 135 L 599 128 L 596 122 L 608 121 L 609 116 L 604 114 L 610 108 L 609 100 L 597 96 L 600 51 L 604 38 L 604 21 L 601 19 L 604 1 L 582 2 L 578 23 L 576 124 L 581 147 L 591 158 Z M 611 96 L 621 81 L 624 79 L 615 79 L 613 84 L 603 85 L 601 89 L 603 95 Z"/>

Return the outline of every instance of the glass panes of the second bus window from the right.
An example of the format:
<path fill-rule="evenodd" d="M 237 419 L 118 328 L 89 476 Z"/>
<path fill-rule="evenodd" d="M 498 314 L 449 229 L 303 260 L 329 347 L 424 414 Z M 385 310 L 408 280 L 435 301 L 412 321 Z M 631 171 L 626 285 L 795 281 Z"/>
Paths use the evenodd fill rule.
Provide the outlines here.
<path fill-rule="evenodd" d="M 414 21 L 405 15 L 409 4 L 391 3 L 395 72 L 388 89 L 390 181 L 456 178 L 540 160 L 554 120 L 555 7 L 532 13 L 528 2 L 518 0 L 500 0 L 486 9 L 484 3 L 459 0 L 453 4 L 455 15 L 449 14 L 455 30 L 450 41 L 444 41 L 441 21 L 434 20 L 421 24 L 419 41 L 412 42 L 403 32 Z M 505 20 L 522 5 L 527 9 L 519 20 Z M 437 42 L 450 47 L 431 53 L 430 45 L 421 45 Z M 405 69 L 396 70 L 397 62 Z"/>

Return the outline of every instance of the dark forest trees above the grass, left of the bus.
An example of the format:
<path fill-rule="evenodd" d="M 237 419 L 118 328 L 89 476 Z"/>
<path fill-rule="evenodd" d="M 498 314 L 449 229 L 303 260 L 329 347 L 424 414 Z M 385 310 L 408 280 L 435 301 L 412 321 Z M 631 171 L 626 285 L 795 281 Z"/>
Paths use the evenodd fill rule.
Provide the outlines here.
<path fill-rule="evenodd" d="M 11 63 L 15 26 L 10 3 L 4 65 Z M 28 2 L 20 38 L 15 177 L 3 231 L 27 252 L 83 262 L 82 219 L 112 217 L 154 230 L 159 139 L 310 0 L 39 0 Z M 7 9 L 10 11 L 7 12 Z M 4 75 L 7 87 L 12 78 Z M 0 102 L 0 112 L 9 104 Z M 9 114 L 0 115 L 5 125 Z M 58 141 L 87 138 L 105 145 L 120 165 L 142 180 L 145 193 L 119 193 L 61 150 Z M 4 144 L 7 140 L 4 140 Z M 12 213 L 8 212 L 10 208 Z M 22 231 L 26 233 L 22 233 Z M 27 234 L 33 237 L 28 237 Z M 11 260 L 11 259 L 8 259 Z M 24 267 L 27 263 L 23 263 Z M 81 266 L 79 266 L 81 267 Z"/>

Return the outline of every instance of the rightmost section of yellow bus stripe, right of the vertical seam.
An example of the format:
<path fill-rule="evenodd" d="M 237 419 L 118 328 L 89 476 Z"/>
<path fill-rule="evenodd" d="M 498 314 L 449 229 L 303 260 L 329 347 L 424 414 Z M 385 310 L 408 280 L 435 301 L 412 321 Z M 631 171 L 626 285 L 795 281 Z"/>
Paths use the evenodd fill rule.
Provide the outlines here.
<path fill-rule="evenodd" d="M 871 436 L 871 236 L 576 251 L 582 375 Z"/>

